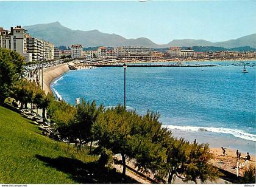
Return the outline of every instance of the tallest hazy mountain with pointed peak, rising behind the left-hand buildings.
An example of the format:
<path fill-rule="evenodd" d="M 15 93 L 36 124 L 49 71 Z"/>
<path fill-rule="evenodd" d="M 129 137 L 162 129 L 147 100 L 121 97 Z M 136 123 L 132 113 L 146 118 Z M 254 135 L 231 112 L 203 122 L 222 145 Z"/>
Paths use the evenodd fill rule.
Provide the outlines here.
<path fill-rule="evenodd" d="M 99 30 L 71 30 L 59 22 L 24 26 L 24 28 L 29 31 L 30 35 L 51 41 L 55 46 L 71 46 L 71 44 L 82 44 L 83 47 L 158 46 L 147 38 L 126 39 L 116 34 L 102 33 Z"/>

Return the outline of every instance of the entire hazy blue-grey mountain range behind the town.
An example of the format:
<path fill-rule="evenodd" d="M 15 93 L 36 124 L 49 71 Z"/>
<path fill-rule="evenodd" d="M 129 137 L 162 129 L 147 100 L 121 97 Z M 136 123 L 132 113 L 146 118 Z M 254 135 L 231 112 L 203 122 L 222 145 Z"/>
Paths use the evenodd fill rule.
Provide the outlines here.
<path fill-rule="evenodd" d="M 250 46 L 256 48 L 256 33 L 238 39 L 222 42 L 210 42 L 204 39 L 174 39 L 168 44 L 156 44 L 148 38 L 126 39 L 116 34 L 99 32 L 99 30 L 71 30 L 60 22 L 49 24 L 36 24 L 24 26 L 31 36 L 54 43 L 55 46 L 71 46 L 82 44 L 83 47 L 96 46 L 145 46 L 150 48 L 182 47 L 182 46 L 215 46 L 215 47 L 240 47 Z"/>

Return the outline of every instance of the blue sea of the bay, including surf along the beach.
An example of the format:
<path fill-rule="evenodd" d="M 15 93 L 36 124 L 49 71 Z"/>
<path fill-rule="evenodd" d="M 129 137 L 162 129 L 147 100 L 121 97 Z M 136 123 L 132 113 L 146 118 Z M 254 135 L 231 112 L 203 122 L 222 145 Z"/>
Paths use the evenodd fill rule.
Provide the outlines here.
<path fill-rule="evenodd" d="M 127 109 L 159 112 L 163 126 L 176 137 L 255 155 L 256 61 L 182 62 L 195 64 L 216 66 L 127 67 Z M 244 65 L 248 73 L 243 73 Z M 124 103 L 124 69 L 71 70 L 54 80 L 51 89 L 70 104 L 84 98 L 116 106 Z"/>

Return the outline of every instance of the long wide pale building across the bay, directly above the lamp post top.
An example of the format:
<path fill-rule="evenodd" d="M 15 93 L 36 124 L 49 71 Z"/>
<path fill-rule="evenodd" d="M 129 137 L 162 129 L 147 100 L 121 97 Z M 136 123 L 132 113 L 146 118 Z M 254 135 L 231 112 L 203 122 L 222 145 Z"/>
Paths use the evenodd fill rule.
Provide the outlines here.
<path fill-rule="evenodd" d="M 127 59 L 149 59 L 151 50 L 148 47 L 122 46 L 115 47 L 115 55 L 118 58 Z"/>

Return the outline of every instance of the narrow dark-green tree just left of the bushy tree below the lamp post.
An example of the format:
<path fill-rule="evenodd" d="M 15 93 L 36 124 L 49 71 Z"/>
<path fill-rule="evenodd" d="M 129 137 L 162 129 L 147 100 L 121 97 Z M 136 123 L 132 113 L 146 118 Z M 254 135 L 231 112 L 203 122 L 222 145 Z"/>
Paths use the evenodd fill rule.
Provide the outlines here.
<path fill-rule="evenodd" d="M 91 134 L 91 127 L 93 123 L 97 120 L 99 114 L 101 114 L 104 110 L 104 107 L 100 105 L 96 106 L 96 101 L 85 102 L 82 99 L 82 103 L 78 104 L 76 113 L 76 137 L 79 138 L 81 142 L 91 142 L 90 144 L 90 152 L 91 146 L 93 142 L 93 135 Z M 82 148 L 82 144 L 80 144 Z"/>

